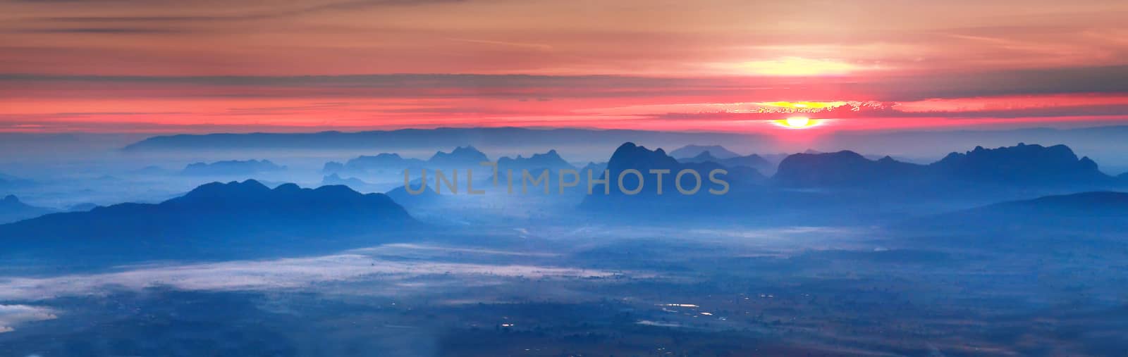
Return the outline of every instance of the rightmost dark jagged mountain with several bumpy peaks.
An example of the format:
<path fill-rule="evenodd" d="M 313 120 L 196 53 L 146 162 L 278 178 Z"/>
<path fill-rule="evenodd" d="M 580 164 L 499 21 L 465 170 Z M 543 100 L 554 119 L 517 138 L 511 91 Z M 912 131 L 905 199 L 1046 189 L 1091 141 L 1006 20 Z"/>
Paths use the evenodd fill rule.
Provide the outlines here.
<path fill-rule="evenodd" d="M 950 153 L 932 163 L 936 176 L 961 181 L 1028 185 L 1105 185 L 1111 177 L 1096 162 L 1077 155 L 1066 145 L 1026 145 Z"/>

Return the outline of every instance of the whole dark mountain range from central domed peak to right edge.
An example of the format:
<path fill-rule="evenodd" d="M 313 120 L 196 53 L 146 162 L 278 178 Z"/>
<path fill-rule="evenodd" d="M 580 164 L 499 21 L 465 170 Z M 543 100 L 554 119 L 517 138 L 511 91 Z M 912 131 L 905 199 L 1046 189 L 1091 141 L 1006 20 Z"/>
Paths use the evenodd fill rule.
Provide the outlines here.
<path fill-rule="evenodd" d="M 758 171 L 742 172 L 735 168 L 729 169 L 725 180 L 731 185 L 730 193 L 720 196 L 696 195 L 679 196 L 670 190 L 673 184 L 670 176 L 663 180 L 667 194 L 675 193 L 677 199 L 668 197 L 651 197 L 654 178 L 643 193 L 628 196 L 613 189 L 609 195 L 602 195 L 597 188 L 596 195 L 584 198 L 582 207 L 588 211 L 605 209 L 625 216 L 643 216 L 662 211 L 677 212 L 676 217 L 748 217 L 770 218 L 775 223 L 787 220 L 788 215 L 797 214 L 807 220 L 834 221 L 836 224 L 878 223 L 900 220 L 905 215 L 931 214 L 943 209 L 970 207 L 990 202 L 1011 200 L 1037 195 L 1052 195 L 1077 190 L 1102 189 L 1109 182 L 1108 177 L 1095 170 L 1091 160 L 1072 157 L 1067 148 L 1043 148 L 1039 145 L 1020 145 L 1019 150 L 1001 150 L 1002 155 L 993 160 L 1010 160 L 1011 164 L 990 166 L 987 175 L 978 172 L 967 177 L 953 178 L 951 172 L 961 172 L 953 168 L 969 166 L 980 167 L 985 161 L 979 154 L 953 154 L 951 158 L 971 159 L 938 164 L 916 164 L 901 162 L 890 157 L 876 160 L 869 159 L 853 151 L 812 152 L 788 155 L 781 162 L 778 171 L 768 180 L 770 185 L 757 185 L 755 177 Z M 1066 154 L 1058 153 L 1059 151 Z M 1050 153 L 1047 153 L 1049 151 Z M 1029 157 L 1039 160 L 1030 160 Z M 699 158 L 703 159 L 703 158 Z M 693 160 L 690 160 L 693 161 Z M 716 160 L 724 161 L 724 160 Z M 986 160 L 990 161 L 990 160 Z M 1022 162 L 1024 164 L 1014 164 Z M 650 169 L 669 169 L 677 172 L 682 168 L 695 168 L 707 172 L 723 166 L 713 160 L 704 162 L 679 162 L 661 150 L 647 150 L 632 143 L 620 146 L 608 162 L 611 171 L 613 188 L 619 172 L 637 169 L 647 172 Z M 739 168 L 739 167 L 738 167 Z M 1074 172 L 1060 173 L 1059 170 Z M 1013 172 L 1012 172 L 1013 171 Z M 1029 180 L 1042 186 L 1011 187 L 1006 181 L 997 181 L 997 177 L 1013 179 L 1015 175 L 1036 175 L 1041 172 L 1049 179 Z M 704 173 L 703 173 L 704 175 Z M 624 186 L 636 187 L 633 175 L 625 176 Z M 706 182 L 706 187 L 708 182 Z M 791 188 L 801 188 L 800 190 Z M 800 220 L 800 221 L 802 221 Z"/>

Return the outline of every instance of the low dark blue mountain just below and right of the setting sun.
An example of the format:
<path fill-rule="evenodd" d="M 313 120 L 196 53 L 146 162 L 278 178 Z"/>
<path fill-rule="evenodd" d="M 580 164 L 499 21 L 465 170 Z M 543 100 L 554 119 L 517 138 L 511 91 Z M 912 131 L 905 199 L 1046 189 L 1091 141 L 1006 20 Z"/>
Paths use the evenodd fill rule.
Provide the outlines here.
<path fill-rule="evenodd" d="M 849 187 L 918 180 L 925 167 L 885 157 L 870 160 L 853 151 L 788 155 L 772 181 L 784 187 Z"/>

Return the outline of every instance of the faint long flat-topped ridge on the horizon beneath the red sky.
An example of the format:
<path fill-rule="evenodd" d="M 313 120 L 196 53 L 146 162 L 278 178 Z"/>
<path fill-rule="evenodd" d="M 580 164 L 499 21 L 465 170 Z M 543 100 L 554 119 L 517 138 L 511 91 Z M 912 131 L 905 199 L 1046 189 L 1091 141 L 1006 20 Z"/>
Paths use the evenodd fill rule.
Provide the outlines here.
<path fill-rule="evenodd" d="M 1014 128 L 988 131 L 897 131 L 892 133 L 838 132 L 819 140 L 819 150 L 848 148 L 861 153 L 896 152 L 895 158 L 942 157 L 954 150 L 982 145 L 995 148 L 1013 145 L 1017 142 L 1061 143 L 1074 150 L 1082 150 L 1091 158 L 1100 158 L 1102 163 L 1117 167 L 1128 166 L 1121 160 L 1128 150 L 1123 137 L 1128 126 L 1099 126 L 1082 128 Z M 646 143 L 677 148 L 694 143 L 710 143 L 725 148 L 752 152 L 778 152 L 776 139 L 769 135 L 732 133 L 671 133 L 649 131 L 601 131 L 601 130 L 529 130 L 514 127 L 493 128 L 435 128 L 370 132 L 320 132 L 320 133 L 249 133 L 166 135 L 150 137 L 126 146 L 129 152 L 175 151 L 175 150 L 239 150 L 239 149 L 284 149 L 284 150 L 331 150 L 361 149 L 395 151 L 408 149 L 433 149 L 435 143 L 476 145 L 478 148 L 555 148 L 575 150 L 597 148 L 582 155 L 596 155 L 624 142 Z M 582 148 L 576 145 L 582 143 Z M 714 153 L 715 154 L 715 153 Z M 690 155 L 691 157 L 691 155 Z M 769 161 L 775 161 L 761 154 Z M 879 157 L 880 158 L 880 157 Z M 872 158 L 875 159 L 875 158 Z M 904 161 L 904 160 L 902 160 Z M 914 160 L 914 162 L 917 162 Z"/>

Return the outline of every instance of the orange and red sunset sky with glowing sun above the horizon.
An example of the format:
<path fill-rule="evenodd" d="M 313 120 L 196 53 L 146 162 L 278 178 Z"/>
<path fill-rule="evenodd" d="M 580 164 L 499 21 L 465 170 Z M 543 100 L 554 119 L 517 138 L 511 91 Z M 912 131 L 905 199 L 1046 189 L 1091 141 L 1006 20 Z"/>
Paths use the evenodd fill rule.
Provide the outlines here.
<path fill-rule="evenodd" d="M 1118 125 L 1125 18 L 1086 0 L 0 0 L 0 132 Z"/>

